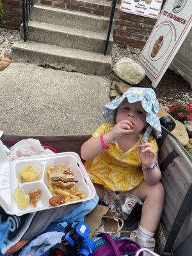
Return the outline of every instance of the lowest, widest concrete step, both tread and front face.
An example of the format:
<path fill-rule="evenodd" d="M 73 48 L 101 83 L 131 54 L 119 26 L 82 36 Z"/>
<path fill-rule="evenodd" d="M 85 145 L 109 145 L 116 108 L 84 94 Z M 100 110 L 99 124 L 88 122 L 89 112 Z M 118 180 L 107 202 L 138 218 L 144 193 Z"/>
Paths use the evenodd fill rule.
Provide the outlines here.
<path fill-rule="evenodd" d="M 12 60 L 98 76 L 111 71 L 110 55 L 30 41 L 19 41 L 12 46 Z"/>

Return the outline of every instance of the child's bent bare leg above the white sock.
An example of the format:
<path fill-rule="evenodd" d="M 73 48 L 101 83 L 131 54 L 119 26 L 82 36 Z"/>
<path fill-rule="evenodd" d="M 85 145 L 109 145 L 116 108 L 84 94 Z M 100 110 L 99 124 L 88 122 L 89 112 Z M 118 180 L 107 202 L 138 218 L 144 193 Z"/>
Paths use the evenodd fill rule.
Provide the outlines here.
<path fill-rule="evenodd" d="M 150 186 L 144 180 L 141 184 L 130 191 L 143 201 L 141 214 L 141 227 L 148 232 L 156 232 L 164 204 L 164 188 L 161 182 Z"/>

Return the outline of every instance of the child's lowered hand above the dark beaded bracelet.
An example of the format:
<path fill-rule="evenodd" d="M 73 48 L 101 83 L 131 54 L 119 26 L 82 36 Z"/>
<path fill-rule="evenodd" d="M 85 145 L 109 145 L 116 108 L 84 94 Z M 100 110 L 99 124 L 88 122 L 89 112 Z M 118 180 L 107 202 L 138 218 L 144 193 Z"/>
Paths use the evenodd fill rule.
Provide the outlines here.
<path fill-rule="evenodd" d="M 156 161 L 156 152 L 147 140 L 141 141 L 141 144 L 138 145 L 138 152 L 143 166 L 150 167 Z"/>

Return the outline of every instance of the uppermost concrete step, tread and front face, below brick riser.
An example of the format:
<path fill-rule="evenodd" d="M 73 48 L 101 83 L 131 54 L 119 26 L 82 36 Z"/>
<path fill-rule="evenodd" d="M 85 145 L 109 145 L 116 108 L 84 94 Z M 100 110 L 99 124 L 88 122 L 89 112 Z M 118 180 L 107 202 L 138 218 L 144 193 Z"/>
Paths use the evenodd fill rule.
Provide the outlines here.
<path fill-rule="evenodd" d="M 108 31 L 109 18 L 35 4 L 30 20 L 87 31 Z"/>

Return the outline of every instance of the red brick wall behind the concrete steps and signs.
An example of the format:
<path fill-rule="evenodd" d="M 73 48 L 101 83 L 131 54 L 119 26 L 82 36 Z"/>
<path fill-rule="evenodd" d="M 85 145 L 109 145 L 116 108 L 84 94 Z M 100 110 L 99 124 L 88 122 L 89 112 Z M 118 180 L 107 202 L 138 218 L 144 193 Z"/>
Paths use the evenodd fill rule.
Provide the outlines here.
<path fill-rule="evenodd" d="M 22 22 L 22 1 L 3 1 L 4 25 L 0 27 L 19 29 Z M 105 0 L 36 0 L 36 3 L 108 17 L 111 12 L 111 1 Z M 117 4 L 115 10 L 115 29 L 113 32 L 114 42 L 122 46 L 128 44 L 129 46 L 142 49 L 156 20 L 120 12 L 119 8 L 120 4 Z"/>

